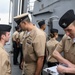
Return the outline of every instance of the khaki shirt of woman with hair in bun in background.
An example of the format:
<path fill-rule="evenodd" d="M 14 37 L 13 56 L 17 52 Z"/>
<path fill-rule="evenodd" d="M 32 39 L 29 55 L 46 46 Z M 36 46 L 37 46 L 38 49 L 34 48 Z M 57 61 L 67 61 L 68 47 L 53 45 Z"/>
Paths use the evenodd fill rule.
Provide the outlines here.
<path fill-rule="evenodd" d="M 47 42 L 47 50 L 49 52 L 49 55 L 48 55 L 48 59 L 47 61 L 48 62 L 57 62 L 57 60 L 55 58 L 52 57 L 52 53 L 55 49 L 55 47 L 57 46 L 58 44 L 58 41 L 54 38 L 51 38 L 48 42 Z"/>

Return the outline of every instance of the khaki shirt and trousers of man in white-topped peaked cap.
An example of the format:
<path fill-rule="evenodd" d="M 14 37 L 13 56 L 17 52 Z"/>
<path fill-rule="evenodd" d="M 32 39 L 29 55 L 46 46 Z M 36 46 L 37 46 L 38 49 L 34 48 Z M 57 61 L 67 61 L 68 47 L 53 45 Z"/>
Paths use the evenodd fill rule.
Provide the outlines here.
<path fill-rule="evenodd" d="M 34 75 L 38 57 L 45 55 L 45 43 L 44 33 L 34 26 L 23 42 L 25 75 Z"/>

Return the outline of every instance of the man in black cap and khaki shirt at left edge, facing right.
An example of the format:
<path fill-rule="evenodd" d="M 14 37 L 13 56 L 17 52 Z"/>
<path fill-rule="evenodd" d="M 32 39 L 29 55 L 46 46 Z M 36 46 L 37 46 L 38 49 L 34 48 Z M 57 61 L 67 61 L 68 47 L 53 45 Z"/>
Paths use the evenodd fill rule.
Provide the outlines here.
<path fill-rule="evenodd" d="M 11 26 L 0 24 L 0 75 L 11 75 L 9 54 L 4 45 L 9 41 Z"/>

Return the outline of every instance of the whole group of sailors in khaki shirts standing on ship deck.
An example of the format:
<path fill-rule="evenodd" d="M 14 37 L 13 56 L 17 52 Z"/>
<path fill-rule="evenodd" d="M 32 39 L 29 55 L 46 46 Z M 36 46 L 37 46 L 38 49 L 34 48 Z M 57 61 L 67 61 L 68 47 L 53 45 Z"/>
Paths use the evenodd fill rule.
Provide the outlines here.
<path fill-rule="evenodd" d="M 38 22 L 40 29 L 31 22 L 28 13 L 14 17 L 14 21 L 17 23 L 17 27 L 12 36 L 13 64 L 18 64 L 17 57 L 20 51 L 19 67 L 23 69 L 23 75 L 42 75 L 45 59 L 48 67 L 60 63 L 66 65 L 57 66 L 59 73 L 75 75 L 75 14 L 73 9 L 68 10 L 59 20 L 59 26 L 65 31 L 60 42 L 56 40 L 58 30 L 54 28 L 50 30 L 51 38 L 47 41 L 44 20 Z M 9 40 L 10 29 L 11 26 L 0 25 L 1 75 L 11 75 L 9 55 L 3 47 Z M 61 52 L 64 52 L 63 56 L 60 54 Z"/>

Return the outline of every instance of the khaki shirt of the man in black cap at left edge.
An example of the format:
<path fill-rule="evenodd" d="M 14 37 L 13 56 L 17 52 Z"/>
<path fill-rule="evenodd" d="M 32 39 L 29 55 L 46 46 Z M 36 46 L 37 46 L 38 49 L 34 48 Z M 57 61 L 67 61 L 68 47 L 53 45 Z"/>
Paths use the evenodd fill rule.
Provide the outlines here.
<path fill-rule="evenodd" d="M 10 58 L 0 44 L 0 75 L 11 75 Z"/>

